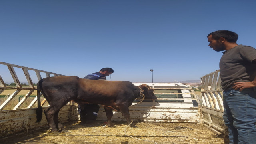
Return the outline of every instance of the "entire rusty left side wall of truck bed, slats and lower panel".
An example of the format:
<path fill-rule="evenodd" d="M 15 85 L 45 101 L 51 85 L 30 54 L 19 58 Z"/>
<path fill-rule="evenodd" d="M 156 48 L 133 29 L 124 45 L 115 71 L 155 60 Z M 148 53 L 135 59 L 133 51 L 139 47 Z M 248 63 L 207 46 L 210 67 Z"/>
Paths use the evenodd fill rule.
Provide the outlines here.
<path fill-rule="evenodd" d="M 20 77 L 24 78 L 24 76 L 27 80 L 27 86 L 22 86 L 20 83 Z M 34 77 L 32 78 L 32 76 Z M 62 75 L 0 62 L 0 96 L 6 93 L 6 91 L 12 91 L 10 94 L 7 94 L 5 98 L 0 99 L 0 136 L 6 136 L 20 131 L 27 132 L 28 129 L 48 125 L 44 116 L 42 122 L 35 124 L 37 97 L 31 96 L 31 94 L 34 91 L 36 92 L 37 88 L 34 84 L 37 83 L 38 80 L 42 79 L 42 77 L 50 76 Z M 6 77 L 8 77 L 8 80 L 13 79 L 15 85 L 8 86 L 4 80 Z M 24 93 L 24 96 L 18 101 L 20 93 Z M 46 100 L 42 100 L 41 105 L 44 105 L 43 109 L 45 109 L 48 103 Z M 67 105 L 60 110 L 59 117 L 62 117 L 61 122 L 66 122 L 71 119 L 73 110 L 70 109 L 72 109 L 72 107 L 71 105 Z"/>

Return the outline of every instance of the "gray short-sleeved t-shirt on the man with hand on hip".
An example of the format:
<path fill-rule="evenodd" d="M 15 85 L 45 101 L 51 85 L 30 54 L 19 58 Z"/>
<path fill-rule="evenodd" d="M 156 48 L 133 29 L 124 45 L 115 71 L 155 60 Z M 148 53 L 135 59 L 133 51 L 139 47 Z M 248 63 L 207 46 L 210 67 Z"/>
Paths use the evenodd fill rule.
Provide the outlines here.
<path fill-rule="evenodd" d="M 220 59 L 220 78 L 223 90 L 232 88 L 235 82 L 250 82 L 256 76 L 256 49 L 238 45 L 223 52 Z"/>

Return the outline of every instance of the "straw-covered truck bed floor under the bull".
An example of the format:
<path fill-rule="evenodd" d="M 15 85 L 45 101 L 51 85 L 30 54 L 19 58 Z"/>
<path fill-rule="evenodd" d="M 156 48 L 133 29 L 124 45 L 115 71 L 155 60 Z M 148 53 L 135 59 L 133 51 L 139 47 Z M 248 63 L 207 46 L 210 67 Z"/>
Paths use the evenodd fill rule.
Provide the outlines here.
<path fill-rule="evenodd" d="M 48 128 L 29 131 L 28 135 L 12 135 L 0 139 L 1 144 L 224 144 L 224 138 L 217 136 L 200 124 L 134 122 L 113 122 L 114 127 L 104 122 L 80 125 L 65 123 L 65 130 L 52 134 Z"/>

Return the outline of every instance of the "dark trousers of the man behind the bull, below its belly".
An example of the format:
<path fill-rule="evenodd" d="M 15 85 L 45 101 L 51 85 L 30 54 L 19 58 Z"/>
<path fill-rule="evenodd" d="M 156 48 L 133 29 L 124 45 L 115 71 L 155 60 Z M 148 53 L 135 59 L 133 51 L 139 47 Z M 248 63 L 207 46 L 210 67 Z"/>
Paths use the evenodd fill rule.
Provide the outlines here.
<path fill-rule="evenodd" d="M 83 104 L 78 105 L 78 113 L 80 114 L 81 122 L 92 122 L 98 117 L 100 106 L 98 104 Z"/>

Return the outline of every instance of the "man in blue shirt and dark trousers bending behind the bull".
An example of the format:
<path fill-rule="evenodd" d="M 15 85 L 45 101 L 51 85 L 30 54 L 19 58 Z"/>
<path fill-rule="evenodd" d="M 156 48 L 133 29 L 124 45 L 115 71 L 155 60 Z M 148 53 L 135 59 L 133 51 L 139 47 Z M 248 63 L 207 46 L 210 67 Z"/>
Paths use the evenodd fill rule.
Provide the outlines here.
<path fill-rule="evenodd" d="M 100 72 L 95 72 L 85 76 L 85 79 L 90 80 L 107 80 L 106 76 L 114 73 L 112 68 L 102 68 Z M 80 114 L 81 124 L 90 123 L 96 120 L 98 117 L 98 111 L 100 106 L 98 104 L 84 104 L 83 106 L 78 105 L 78 113 Z"/>

